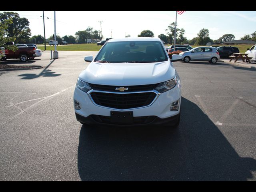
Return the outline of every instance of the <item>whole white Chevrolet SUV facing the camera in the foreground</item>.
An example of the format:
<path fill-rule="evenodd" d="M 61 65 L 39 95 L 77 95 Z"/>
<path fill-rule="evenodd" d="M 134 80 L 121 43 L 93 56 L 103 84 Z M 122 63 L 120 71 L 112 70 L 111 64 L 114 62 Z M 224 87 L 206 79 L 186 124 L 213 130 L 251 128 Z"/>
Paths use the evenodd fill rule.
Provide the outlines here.
<path fill-rule="evenodd" d="M 172 55 L 172 62 L 182 56 Z M 180 122 L 181 84 L 159 38 L 110 39 L 80 73 L 74 91 L 82 124 L 145 125 Z"/>

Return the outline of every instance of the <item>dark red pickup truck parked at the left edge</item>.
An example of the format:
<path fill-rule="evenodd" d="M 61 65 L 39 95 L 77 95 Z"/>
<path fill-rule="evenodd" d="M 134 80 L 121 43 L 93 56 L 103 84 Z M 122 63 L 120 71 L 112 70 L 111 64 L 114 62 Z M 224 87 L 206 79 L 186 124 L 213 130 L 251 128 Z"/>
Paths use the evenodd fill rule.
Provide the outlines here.
<path fill-rule="evenodd" d="M 18 47 L 16 52 L 5 49 L 4 56 L 2 56 L 1 60 L 20 59 L 20 61 L 26 62 L 30 57 L 36 57 L 35 47 Z"/>

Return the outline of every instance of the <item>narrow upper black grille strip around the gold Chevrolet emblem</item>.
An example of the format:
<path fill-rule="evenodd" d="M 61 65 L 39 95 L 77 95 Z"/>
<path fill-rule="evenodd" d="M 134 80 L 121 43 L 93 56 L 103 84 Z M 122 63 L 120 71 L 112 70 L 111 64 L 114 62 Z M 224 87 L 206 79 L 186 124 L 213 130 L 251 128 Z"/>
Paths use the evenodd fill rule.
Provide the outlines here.
<path fill-rule="evenodd" d="M 136 92 L 136 91 L 151 91 L 154 88 L 156 88 L 157 85 L 158 84 L 133 85 L 133 86 L 124 86 L 124 87 L 128 87 L 127 92 Z M 116 88 L 120 86 L 97 85 L 97 84 L 91 84 L 91 83 L 90 83 L 90 86 L 93 90 L 120 92 L 119 90 L 116 90 Z"/>

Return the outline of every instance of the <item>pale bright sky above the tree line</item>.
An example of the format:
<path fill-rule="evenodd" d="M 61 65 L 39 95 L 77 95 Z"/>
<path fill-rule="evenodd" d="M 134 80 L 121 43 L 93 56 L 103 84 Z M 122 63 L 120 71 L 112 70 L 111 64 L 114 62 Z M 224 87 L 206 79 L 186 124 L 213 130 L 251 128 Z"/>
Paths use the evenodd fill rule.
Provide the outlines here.
<path fill-rule="evenodd" d="M 11 10 L 10 10 L 11 11 Z M 0 11 L 4 12 L 4 11 Z M 7 10 L 6 10 L 7 12 Z M 30 22 L 32 36 L 44 36 L 42 11 L 13 11 Z M 44 11 L 46 38 L 54 34 L 54 11 Z M 47 18 L 48 17 L 48 18 Z M 175 22 L 176 11 L 56 11 L 56 34 L 75 36 L 88 26 L 100 30 L 104 38 L 137 37 L 143 30 L 151 30 L 155 37 L 166 34 L 165 29 Z M 177 15 L 177 28 L 184 28 L 184 36 L 192 39 L 202 28 L 209 30 L 212 40 L 233 34 L 239 40 L 256 31 L 256 11 L 186 11 Z"/>

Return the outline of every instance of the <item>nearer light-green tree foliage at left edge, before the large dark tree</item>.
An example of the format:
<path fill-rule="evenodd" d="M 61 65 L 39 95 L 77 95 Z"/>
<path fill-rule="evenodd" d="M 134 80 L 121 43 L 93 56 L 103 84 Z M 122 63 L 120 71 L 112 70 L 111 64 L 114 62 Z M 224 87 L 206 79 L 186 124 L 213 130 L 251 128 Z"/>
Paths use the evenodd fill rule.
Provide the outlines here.
<path fill-rule="evenodd" d="M 14 45 L 5 45 L 4 42 L 14 42 L 15 37 L 7 37 L 7 28 L 8 26 L 12 24 L 12 18 L 4 19 L 0 21 L 0 47 L 4 47 L 8 50 L 16 51 L 18 50 L 18 47 Z M 0 58 L 2 55 L 0 54 Z"/>

